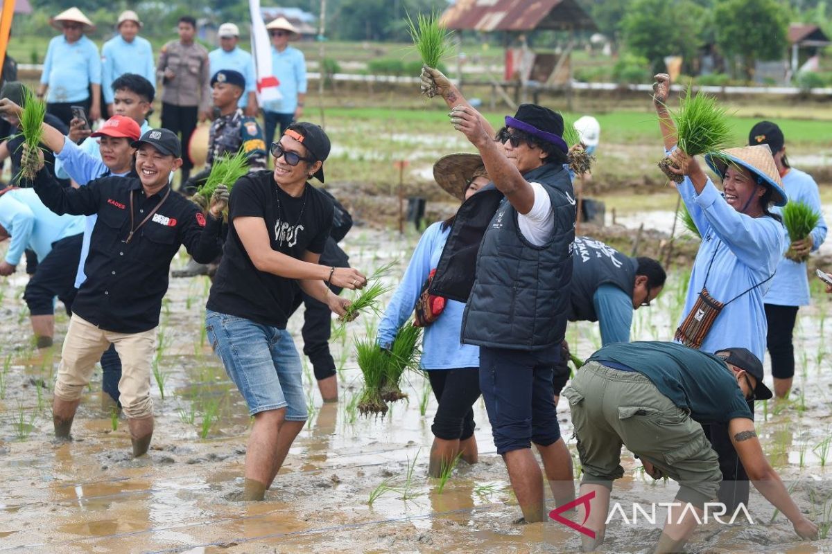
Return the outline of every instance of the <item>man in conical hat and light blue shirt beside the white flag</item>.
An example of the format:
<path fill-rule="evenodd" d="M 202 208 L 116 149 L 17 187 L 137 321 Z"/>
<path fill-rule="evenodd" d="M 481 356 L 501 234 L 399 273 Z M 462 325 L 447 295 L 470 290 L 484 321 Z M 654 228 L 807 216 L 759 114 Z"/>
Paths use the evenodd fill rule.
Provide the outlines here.
<path fill-rule="evenodd" d="M 306 60 L 304 53 L 289 46 L 300 38 L 295 26 L 285 17 L 278 17 L 265 26 L 271 37 L 272 73 L 280 81 L 280 100 L 265 102 L 265 145 L 268 150 L 275 140 L 275 130 L 283 136 L 292 121 L 300 120 L 306 98 Z"/>

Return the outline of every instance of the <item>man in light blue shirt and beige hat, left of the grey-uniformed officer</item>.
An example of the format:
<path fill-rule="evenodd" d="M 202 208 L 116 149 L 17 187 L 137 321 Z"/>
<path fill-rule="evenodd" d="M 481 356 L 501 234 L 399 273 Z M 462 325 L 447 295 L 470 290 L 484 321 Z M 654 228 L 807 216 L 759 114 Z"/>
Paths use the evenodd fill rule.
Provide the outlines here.
<path fill-rule="evenodd" d="M 125 73 L 143 76 L 156 88 L 156 61 L 153 47 L 145 38 L 137 37 L 141 21 L 136 12 L 121 12 L 116 23 L 118 34 L 102 47 L 102 87 L 107 115 L 116 115 L 113 107 L 112 83 Z"/>

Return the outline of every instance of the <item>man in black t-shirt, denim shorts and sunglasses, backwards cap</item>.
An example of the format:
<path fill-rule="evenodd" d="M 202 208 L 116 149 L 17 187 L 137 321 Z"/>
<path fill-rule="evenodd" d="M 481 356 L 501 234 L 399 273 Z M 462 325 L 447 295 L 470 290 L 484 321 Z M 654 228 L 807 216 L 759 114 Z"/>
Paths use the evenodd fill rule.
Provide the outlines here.
<path fill-rule="evenodd" d="M 307 417 L 300 356 L 286 331 L 303 290 L 344 315 L 349 301 L 327 285 L 367 284 L 349 267 L 319 264 L 333 224 L 333 204 L 308 184 L 324 182 L 329 137 L 295 123 L 271 145 L 273 172 L 238 180 L 229 203 L 229 234 L 211 287 L 206 328 L 211 345 L 255 421 L 245 454 L 242 500 L 262 500 Z"/>

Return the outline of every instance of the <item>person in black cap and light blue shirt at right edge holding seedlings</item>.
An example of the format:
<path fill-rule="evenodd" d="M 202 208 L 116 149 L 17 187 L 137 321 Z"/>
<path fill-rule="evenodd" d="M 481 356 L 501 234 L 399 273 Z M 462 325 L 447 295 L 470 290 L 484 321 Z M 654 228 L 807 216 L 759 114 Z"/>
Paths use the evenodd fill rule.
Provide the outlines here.
<path fill-rule="evenodd" d="M 754 125 L 748 135 L 749 145 L 769 145 L 774 154 L 777 171 L 783 179 L 783 188 L 790 202 L 808 204 L 820 213 L 820 220 L 808 237 L 790 243 L 785 237 L 788 248 L 795 253 L 809 255 L 815 252 L 826 239 L 826 221 L 820 205 L 820 192 L 815 179 L 810 174 L 790 166 L 785 157 L 785 137 L 775 123 L 760 121 Z M 771 210 L 781 213 L 780 208 Z M 787 233 L 784 228 L 784 233 Z M 785 398 L 791 389 L 795 376 L 795 347 L 792 335 L 795 331 L 797 311 L 800 306 L 809 305 L 809 279 L 806 276 L 806 262 L 793 262 L 788 257 L 780 257 L 777 272 L 771 280 L 769 292 L 765 298 L 765 319 L 768 323 L 766 346 L 771 356 L 771 375 L 775 380 L 775 395 Z"/>

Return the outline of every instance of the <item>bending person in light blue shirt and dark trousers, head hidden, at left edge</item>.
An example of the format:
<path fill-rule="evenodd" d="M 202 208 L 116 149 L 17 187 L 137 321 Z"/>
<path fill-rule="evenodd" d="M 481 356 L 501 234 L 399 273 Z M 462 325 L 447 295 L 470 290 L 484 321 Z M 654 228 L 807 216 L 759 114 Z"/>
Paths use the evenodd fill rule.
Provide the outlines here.
<path fill-rule="evenodd" d="M 75 287 L 72 269 L 81 252 L 84 218 L 52 213 L 34 189 L 0 191 L 0 240 L 11 237 L 0 275 L 11 275 L 25 249 L 37 254 L 37 270 L 26 285 L 23 299 L 29 308 L 38 348 L 52 346 L 55 334 L 55 297 L 70 313 Z"/>

